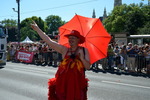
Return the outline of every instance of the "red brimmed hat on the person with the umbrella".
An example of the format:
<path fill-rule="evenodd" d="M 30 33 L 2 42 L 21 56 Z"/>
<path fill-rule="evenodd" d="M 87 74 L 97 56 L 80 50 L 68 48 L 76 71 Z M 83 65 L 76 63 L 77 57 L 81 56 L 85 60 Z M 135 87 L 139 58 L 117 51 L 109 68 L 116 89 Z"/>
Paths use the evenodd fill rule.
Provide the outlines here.
<path fill-rule="evenodd" d="M 80 33 L 77 30 L 72 30 L 69 34 L 64 35 L 65 37 L 69 37 L 69 36 L 75 36 L 78 37 L 80 39 L 79 44 L 82 44 L 85 42 L 85 37 L 80 35 Z"/>

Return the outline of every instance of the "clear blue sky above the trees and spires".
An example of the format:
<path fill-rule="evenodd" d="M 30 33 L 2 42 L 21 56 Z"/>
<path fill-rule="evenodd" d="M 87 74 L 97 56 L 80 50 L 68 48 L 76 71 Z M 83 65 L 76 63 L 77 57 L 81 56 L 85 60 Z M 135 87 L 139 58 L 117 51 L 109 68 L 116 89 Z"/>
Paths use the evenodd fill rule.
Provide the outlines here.
<path fill-rule="evenodd" d="M 0 21 L 4 19 L 17 20 L 16 0 L 0 0 Z M 148 3 L 148 0 L 122 0 L 124 4 L 131 3 Z M 49 15 L 58 15 L 64 21 L 69 21 L 74 15 L 79 14 L 85 17 L 92 17 L 93 9 L 95 9 L 96 17 L 103 15 L 104 7 L 107 14 L 110 13 L 114 6 L 114 0 L 20 0 L 20 19 L 37 16 L 43 20 Z"/>

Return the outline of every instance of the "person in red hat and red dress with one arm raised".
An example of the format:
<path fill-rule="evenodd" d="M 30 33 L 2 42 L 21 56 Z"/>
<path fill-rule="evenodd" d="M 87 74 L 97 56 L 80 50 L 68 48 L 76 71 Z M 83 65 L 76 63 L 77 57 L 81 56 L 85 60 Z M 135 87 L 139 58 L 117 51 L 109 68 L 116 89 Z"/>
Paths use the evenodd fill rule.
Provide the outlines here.
<path fill-rule="evenodd" d="M 90 57 L 88 50 L 79 46 L 85 42 L 85 38 L 77 30 L 72 30 L 65 35 L 69 43 L 69 47 L 66 47 L 48 37 L 35 22 L 31 27 L 63 58 L 55 78 L 49 79 L 48 100 L 87 100 L 88 79 L 85 69 L 90 69 Z"/>

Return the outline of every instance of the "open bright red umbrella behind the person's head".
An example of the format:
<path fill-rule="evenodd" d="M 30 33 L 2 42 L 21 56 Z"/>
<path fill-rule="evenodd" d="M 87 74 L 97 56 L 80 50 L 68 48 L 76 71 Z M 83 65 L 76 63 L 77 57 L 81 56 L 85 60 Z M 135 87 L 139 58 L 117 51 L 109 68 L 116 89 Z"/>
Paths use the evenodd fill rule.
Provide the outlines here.
<path fill-rule="evenodd" d="M 91 64 L 107 56 L 111 36 L 99 18 L 75 15 L 69 22 L 59 27 L 60 44 L 68 46 L 68 39 L 64 35 L 70 33 L 71 30 L 77 30 L 85 37 L 85 42 L 81 46 L 88 49 Z"/>

